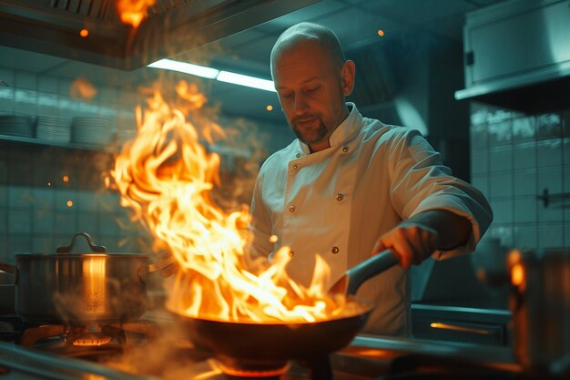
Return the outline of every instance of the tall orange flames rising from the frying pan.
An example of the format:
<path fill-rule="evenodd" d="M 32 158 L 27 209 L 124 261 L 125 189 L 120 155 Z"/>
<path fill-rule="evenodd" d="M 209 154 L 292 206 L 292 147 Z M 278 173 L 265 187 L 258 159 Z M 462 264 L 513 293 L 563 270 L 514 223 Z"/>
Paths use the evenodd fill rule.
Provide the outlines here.
<path fill-rule="evenodd" d="M 244 250 L 249 209 L 222 211 L 214 203 L 220 159 L 198 143 L 198 128 L 185 114 L 199 111 L 205 98 L 195 87 L 180 84 L 177 90 L 184 107 L 170 107 L 155 91 L 144 111 L 137 108 L 137 137 L 123 147 L 111 172 L 121 204 L 148 227 L 157 248 L 168 249 L 178 261 L 168 308 L 191 317 L 255 323 L 345 315 L 345 297 L 324 289 L 330 270 L 320 257 L 309 287 L 287 275 L 287 247 L 271 263 L 251 265 Z"/>

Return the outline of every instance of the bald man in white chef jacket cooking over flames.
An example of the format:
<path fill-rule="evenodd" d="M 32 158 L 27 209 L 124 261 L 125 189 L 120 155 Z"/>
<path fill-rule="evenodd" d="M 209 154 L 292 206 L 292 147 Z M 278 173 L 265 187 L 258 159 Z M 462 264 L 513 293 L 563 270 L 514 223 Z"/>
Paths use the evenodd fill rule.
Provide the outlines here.
<path fill-rule="evenodd" d="M 473 251 L 493 219 L 488 202 L 453 177 L 419 132 L 364 118 L 345 102 L 356 67 L 331 29 L 291 26 L 273 46 L 270 65 L 297 139 L 260 169 L 250 252 L 271 258 L 289 247 L 288 273 L 308 285 L 316 254 L 331 266 L 334 282 L 372 254 L 392 250 L 401 265 L 357 293 L 377 305 L 362 332 L 410 336 L 409 267 Z"/>

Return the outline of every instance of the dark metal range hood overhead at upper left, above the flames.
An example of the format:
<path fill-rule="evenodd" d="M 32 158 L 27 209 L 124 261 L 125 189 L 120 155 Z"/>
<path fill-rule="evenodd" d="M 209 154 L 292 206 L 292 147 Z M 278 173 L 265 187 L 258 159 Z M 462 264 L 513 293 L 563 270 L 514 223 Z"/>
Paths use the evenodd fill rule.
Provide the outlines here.
<path fill-rule="evenodd" d="M 132 29 L 115 0 L 0 0 L 0 45 L 134 70 L 318 1 L 157 0 Z"/>

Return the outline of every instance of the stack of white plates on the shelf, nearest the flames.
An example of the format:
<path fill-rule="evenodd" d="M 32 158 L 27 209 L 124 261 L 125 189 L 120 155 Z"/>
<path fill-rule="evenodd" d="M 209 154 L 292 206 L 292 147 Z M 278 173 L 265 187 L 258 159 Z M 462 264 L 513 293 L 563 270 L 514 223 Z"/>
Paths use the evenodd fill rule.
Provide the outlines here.
<path fill-rule="evenodd" d="M 113 143 L 115 126 L 109 118 L 73 118 L 71 139 L 73 142 L 89 145 Z"/>

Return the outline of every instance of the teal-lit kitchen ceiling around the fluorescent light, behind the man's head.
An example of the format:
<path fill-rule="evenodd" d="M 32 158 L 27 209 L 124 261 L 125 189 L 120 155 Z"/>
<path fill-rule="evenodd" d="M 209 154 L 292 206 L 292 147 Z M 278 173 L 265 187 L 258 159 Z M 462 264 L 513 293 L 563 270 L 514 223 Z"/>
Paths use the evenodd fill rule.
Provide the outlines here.
<path fill-rule="evenodd" d="M 381 39 L 402 36 L 411 40 L 418 36 L 430 36 L 430 41 L 461 44 L 465 13 L 502 1 L 322 0 L 171 57 L 270 79 L 269 56 L 273 43 L 285 28 L 300 21 L 313 21 L 331 27 L 346 51 L 365 51 Z M 379 29 L 384 31 L 384 36 L 378 36 Z M 0 46 L 0 67 L 16 67 L 38 75 L 84 77 L 96 85 L 113 87 L 144 86 L 157 76 L 157 69 L 148 67 L 128 72 L 8 46 Z M 190 78 L 181 74 L 176 76 Z M 268 123 L 284 122 L 275 93 L 208 82 L 209 101 L 219 103 L 224 114 Z M 267 105 L 272 105 L 273 110 L 268 111 Z"/>

